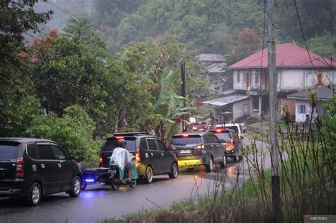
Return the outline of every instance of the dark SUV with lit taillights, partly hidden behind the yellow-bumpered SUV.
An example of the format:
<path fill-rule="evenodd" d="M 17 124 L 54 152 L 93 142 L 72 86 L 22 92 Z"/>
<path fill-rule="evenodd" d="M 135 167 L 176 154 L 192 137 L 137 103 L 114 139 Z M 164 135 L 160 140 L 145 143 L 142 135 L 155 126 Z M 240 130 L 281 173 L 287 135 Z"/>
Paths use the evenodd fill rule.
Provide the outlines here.
<path fill-rule="evenodd" d="M 238 137 L 237 132 L 233 129 L 217 128 L 216 130 L 209 130 L 209 132 L 215 133 L 215 135 L 222 139 L 226 147 L 226 154 L 237 162 L 242 159 L 242 140 Z"/>

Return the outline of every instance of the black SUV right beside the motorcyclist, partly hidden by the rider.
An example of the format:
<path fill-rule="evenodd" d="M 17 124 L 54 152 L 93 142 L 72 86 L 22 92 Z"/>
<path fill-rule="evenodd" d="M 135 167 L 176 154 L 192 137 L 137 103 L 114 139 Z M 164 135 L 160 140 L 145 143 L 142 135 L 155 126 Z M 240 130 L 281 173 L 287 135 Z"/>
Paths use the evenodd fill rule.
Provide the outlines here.
<path fill-rule="evenodd" d="M 119 139 L 125 139 L 125 149 L 135 156 L 139 176 L 145 183 L 152 183 L 153 176 L 159 174 L 168 173 L 169 178 L 177 178 L 179 168 L 175 154 L 148 132 L 115 133 L 107 138 L 99 153 L 99 166 L 108 167 Z"/>

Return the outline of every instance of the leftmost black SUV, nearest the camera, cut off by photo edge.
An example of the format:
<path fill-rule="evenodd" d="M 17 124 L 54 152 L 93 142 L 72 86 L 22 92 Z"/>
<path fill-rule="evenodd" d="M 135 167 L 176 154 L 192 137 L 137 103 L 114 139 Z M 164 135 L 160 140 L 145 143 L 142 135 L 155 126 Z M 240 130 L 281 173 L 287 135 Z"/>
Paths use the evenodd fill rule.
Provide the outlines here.
<path fill-rule="evenodd" d="M 0 138 L 0 197 L 26 197 L 38 205 L 43 195 L 81 193 L 82 171 L 56 142 Z"/>

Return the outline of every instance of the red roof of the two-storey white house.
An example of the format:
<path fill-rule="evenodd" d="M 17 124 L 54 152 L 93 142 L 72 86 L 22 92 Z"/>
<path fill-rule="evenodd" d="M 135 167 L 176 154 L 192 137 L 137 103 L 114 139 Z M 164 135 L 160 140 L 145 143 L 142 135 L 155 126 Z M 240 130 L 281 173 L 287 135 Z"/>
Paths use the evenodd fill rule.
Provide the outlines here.
<path fill-rule="evenodd" d="M 315 52 L 308 52 L 305 48 L 293 44 L 279 44 L 276 45 L 276 67 L 332 67 L 336 62 L 330 61 Z M 246 57 L 235 64 L 232 64 L 228 69 L 243 69 L 243 68 L 257 68 L 267 67 L 267 48 Z M 309 57 L 310 56 L 310 57 Z M 310 62 L 310 58 L 311 61 Z"/>

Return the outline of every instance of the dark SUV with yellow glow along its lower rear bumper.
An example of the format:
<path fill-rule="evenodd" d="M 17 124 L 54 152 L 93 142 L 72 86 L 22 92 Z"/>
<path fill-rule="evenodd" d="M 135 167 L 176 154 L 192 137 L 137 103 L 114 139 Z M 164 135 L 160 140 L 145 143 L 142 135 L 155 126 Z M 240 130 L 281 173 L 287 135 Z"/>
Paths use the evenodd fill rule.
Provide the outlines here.
<path fill-rule="evenodd" d="M 226 165 L 225 146 L 213 132 L 189 132 L 174 135 L 170 142 L 179 161 L 179 167 L 194 168 L 204 165 L 213 171 L 213 164 Z"/>

